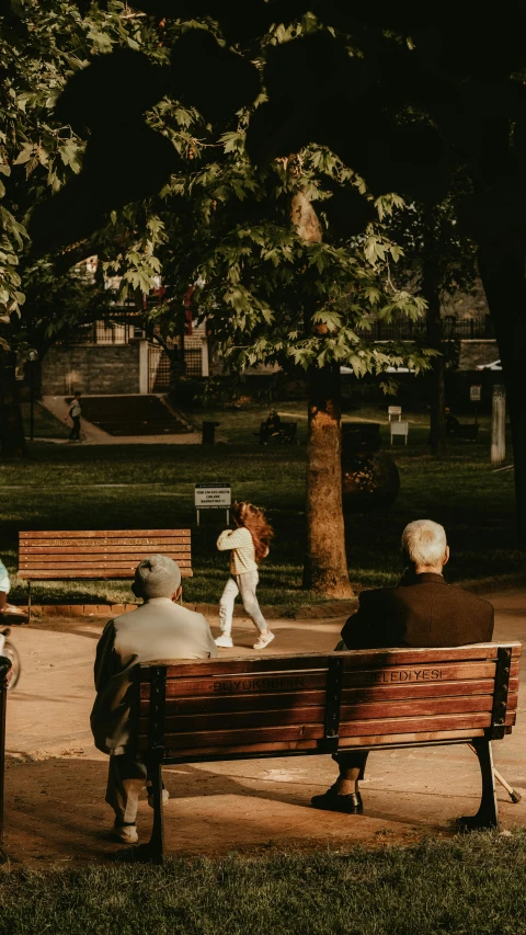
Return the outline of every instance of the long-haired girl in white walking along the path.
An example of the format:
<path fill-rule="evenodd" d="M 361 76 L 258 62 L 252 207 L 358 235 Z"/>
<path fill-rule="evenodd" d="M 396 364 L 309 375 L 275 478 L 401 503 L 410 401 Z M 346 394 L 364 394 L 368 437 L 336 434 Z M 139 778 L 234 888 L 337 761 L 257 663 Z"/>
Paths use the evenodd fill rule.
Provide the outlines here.
<path fill-rule="evenodd" d="M 221 635 L 216 639 L 217 646 L 232 647 L 232 614 L 233 602 L 241 594 L 247 614 L 258 627 L 260 636 L 254 642 L 254 649 L 265 649 L 274 639 L 274 634 L 261 613 L 255 589 L 260 577 L 258 562 L 268 555 L 268 544 L 274 535 L 272 526 L 266 522 L 263 512 L 252 503 L 233 504 L 232 518 L 236 529 L 224 529 L 217 540 L 219 551 L 230 551 L 230 578 L 219 602 L 219 624 Z"/>

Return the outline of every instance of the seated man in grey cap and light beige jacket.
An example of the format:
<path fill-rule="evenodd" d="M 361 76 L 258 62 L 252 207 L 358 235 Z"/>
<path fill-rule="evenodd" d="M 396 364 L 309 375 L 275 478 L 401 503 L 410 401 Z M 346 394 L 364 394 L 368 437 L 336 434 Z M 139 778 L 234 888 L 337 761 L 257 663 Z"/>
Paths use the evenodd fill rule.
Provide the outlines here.
<path fill-rule="evenodd" d="M 138 840 L 137 806 L 147 780 L 146 764 L 134 745 L 137 666 L 160 659 L 217 655 L 203 614 L 175 603 L 181 595 L 181 572 L 171 558 L 152 555 L 141 561 L 135 571 L 133 591 L 144 604 L 110 620 L 99 640 L 96 697 L 91 712 L 95 746 L 110 754 L 106 802 L 115 812 L 113 836 L 125 844 Z M 163 797 L 169 797 L 167 789 Z"/>

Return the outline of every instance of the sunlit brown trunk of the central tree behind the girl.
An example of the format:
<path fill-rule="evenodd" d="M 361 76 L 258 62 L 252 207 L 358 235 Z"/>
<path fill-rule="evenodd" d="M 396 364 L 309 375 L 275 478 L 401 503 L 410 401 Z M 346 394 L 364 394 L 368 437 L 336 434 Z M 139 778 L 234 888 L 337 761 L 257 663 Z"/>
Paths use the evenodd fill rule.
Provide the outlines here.
<path fill-rule="evenodd" d="M 304 588 L 352 597 L 342 508 L 340 367 L 310 367 Z"/>

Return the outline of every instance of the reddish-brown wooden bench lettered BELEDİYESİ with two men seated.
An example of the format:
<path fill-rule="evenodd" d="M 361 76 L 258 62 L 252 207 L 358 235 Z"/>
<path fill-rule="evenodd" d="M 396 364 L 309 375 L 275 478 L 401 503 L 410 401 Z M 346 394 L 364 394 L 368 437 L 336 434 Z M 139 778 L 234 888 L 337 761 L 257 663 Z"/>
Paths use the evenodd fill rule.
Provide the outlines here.
<path fill-rule="evenodd" d="M 491 741 L 515 723 L 519 657 L 514 642 L 140 665 L 137 740 L 155 813 L 151 840 L 136 856 L 162 860 L 164 764 L 356 748 L 471 744 L 482 798 L 468 826 L 496 828 Z"/>

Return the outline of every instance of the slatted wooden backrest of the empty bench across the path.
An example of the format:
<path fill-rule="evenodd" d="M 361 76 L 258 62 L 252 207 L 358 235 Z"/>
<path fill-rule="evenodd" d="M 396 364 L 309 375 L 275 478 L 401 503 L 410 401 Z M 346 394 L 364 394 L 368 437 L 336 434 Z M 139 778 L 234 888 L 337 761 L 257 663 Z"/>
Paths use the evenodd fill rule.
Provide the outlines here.
<path fill-rule="evenodd" d="M 190 529 L 20 533 L 19 578 L 30 581 L 133 578 L 141 559 L 173 558 L 192 575 Z"/>

